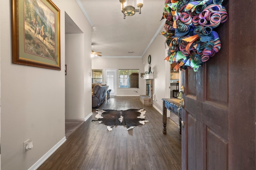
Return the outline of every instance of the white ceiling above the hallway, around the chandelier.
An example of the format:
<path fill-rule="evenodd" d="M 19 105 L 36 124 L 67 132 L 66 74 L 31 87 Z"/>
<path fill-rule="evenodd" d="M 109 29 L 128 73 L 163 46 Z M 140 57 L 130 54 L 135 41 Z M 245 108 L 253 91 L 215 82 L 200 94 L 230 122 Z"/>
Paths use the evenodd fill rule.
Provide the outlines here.
<path fill-rule="evenodd" d="M 119 0 L 76 2 L 92 26 L 92 50 L 103 57 L 142 57 L 164 25 L 164 0 L 144 0 L 142 13 L 125 20 Z"/>

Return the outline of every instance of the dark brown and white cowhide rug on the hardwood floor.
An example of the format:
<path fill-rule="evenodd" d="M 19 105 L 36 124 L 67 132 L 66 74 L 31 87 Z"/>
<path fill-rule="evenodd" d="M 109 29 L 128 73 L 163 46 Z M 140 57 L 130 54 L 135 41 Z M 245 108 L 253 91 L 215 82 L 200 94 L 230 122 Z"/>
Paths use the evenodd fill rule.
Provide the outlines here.
<path fill-rule="evenodd" d="M 107 125 L 108 131 L 112 131 L 115 125 L 125 125 L 127 130 L 133 129 L 135 126 L 144 125 L 148 120 L 144 119 L 145 109 L 128 109 L 128 110 L 102 110 L 96 109 L 98 113 L 95 117 L 99 123 Z"/>

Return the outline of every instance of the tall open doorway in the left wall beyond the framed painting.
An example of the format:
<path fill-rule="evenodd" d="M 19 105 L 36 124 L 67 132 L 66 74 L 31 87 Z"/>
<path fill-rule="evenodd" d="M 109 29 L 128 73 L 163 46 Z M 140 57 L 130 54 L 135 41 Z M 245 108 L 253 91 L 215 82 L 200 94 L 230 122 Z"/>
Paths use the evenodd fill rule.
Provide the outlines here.
<path fill-rule="evenodd" d="M 76 69 L 80 69 L 79 61 L 82 57 L 78 57 L 78 63 L 73 59 L 73 56 L 82 56 L 82 45 L 74 45 L 72 42 L 84 41 L 84 34 L 81 29 L 65 12 L 65 136 L 68 138 L 82 123 L 83 112 L 82 107 L 74 107 L 74 102 L 79 103 L 82 95 L 80 90 L 82 87 L 75 84 L 81 84 L 82 79 L 76 73 Z M 74 53 L 75 51 L 75 53 Z M 75 83 L 74 83 L 75 82 Z M 76 89 L 76 90 L 74 90 Z M 72 92 L 72 93 L 70 93 Z M 81 105 L 79 105 L 81 106 Z M 74 114 L 76 113 L 76 114 Z"/>

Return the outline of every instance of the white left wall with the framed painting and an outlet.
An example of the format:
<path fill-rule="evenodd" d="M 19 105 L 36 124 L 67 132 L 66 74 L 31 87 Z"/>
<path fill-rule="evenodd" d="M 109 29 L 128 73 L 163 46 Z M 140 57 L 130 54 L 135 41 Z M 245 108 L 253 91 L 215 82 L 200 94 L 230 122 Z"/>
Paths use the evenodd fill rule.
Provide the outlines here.
<path fill-rule="evenodd" d="M 11 1 L 0 6 L 1 56 L 1 168 L 30 168 L 54 145 L 65 139 L 65 12 L 85 33 L 84 70 L 91 70 L 91 27 L 73 1 L 52 0 L 60 8 L 62 70 L 12 64 Z M 84 115 L 91 113 L 91 80 L 84 76 Z M 89 81 L 90 80 L 90 81 Z M 88 86 L 87 86 L 88 85 Z M 87 101 L 86 101 L 87 100 Z M 23 153 L 23 141 L 34 148 Z"/>

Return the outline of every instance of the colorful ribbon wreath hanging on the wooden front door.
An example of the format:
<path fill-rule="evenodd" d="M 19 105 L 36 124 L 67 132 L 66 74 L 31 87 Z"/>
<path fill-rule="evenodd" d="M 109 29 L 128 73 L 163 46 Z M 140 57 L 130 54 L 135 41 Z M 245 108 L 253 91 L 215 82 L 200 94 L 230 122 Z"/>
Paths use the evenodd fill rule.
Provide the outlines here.
<path fill-rule="evenodd" d="M 220 51 L 218 33 L 213 31 L 220 23 L 228 20 L 223 0 L 166 0 L 162 19 L 166 19 L 165 31 L 169 46 L 170 63 L 177 63 L 176 70 L 199 66 Z"/>

